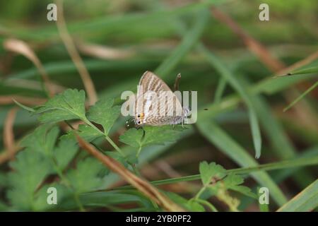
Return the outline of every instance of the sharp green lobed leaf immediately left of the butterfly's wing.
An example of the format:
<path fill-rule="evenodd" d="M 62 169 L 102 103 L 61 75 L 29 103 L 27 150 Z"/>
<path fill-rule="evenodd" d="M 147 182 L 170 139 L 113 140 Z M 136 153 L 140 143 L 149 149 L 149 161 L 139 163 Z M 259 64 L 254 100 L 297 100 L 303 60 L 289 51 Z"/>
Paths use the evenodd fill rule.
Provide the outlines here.
<path fill-rule="evenodd" d="M 113 99 L 104 98 L 96 102 L 96 104 L 88 110 L 88 119 L 101 124 L 106 135 L 110 132 L 114 121 L 116 121 L 120 114 L 120 107 L 112 107 L 112 105 L 114 105 Z"/>

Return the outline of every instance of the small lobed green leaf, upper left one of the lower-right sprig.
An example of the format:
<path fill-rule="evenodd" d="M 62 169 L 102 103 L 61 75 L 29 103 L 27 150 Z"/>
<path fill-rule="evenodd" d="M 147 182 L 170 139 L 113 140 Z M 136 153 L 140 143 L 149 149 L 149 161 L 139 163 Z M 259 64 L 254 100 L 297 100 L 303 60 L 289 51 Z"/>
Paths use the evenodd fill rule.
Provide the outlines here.
<path fill-rule="evenodd" d="M 200 162 L 199 172 L 204 186 L 210 184 L 213 178 L 222 179 L 226 175 L 226 170 L 221 165 L 217 165 L 216 162 L 210 164 L 206 161 Z"/>

